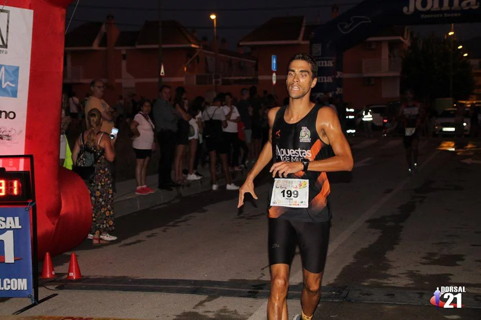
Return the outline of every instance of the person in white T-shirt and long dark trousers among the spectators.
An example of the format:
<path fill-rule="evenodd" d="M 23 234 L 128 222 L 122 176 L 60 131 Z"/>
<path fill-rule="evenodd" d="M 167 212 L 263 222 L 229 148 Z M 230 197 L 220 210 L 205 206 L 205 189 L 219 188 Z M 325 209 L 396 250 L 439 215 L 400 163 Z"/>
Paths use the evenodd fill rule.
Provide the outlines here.
<path fill-rule="evenodd" d="M 240 121 L 240 113 L 232 105 L 232 93 L 225 92 L 224 105 L 222 109 L 224 110 L 225 119 L 227 120 L 227 126 L 222 128 L 224 131 L 225 140 L 229 145 L 228 161 L 231 170 L 240 171 L 239 167 L 239 133 L 237 130 L 237 123 Z M 232 148 L 232 152 L 230 149 Z"/>

